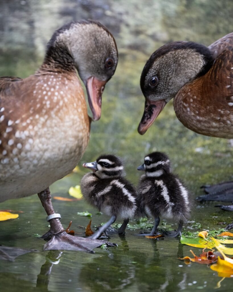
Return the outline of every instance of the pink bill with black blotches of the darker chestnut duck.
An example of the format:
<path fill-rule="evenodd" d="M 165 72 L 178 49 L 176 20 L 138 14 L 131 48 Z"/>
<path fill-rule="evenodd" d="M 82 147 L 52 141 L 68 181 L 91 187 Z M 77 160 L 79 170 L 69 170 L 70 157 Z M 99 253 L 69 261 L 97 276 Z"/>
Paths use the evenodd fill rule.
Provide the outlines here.
<path fill-rule="evenodd" d="M 139 134 L 143 135 L 146 133 L 146 130 L 153 124 L 153 121 L 158 117 L 165 105 L 165 100 L 146 99 L 144 113 L 137 128 Z"/>

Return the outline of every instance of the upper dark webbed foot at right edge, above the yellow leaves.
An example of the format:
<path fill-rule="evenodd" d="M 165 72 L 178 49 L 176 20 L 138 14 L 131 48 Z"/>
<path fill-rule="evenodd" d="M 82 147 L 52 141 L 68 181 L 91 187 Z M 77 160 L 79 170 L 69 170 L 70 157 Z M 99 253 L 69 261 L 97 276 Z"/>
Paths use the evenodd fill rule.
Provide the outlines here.
<path fill-rule="evenodd" d="M 196 198 L 197 201 L 233 202 L 233 182 L 202 186 L 206 195 Z"/>

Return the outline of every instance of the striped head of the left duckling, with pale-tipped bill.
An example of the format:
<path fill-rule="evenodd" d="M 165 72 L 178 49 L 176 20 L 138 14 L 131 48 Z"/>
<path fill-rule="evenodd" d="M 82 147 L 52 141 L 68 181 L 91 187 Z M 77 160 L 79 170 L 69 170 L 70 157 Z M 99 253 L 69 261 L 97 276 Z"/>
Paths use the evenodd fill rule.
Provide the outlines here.
<path fill-rule="evenodd" d="M 125 175 L 121 159 L 112 154 L 100 155 L 96 161 L 84 163 L 82 166 L 91 169 L 100 179 L 119 178 Z"/>

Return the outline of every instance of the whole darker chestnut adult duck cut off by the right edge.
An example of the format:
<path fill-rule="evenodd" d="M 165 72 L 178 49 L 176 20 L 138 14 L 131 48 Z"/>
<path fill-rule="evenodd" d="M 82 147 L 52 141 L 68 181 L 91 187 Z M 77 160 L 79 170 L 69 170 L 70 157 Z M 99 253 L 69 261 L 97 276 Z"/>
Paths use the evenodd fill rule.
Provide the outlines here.
<path fill-rule="evenodd" d="M 184 126 L 202 135 L 233 138 L 233 33 L 209 47 L 190 41 L 160 47 L 146 62 L 140 86 L 146 98 L 140 134 L 174 98 L 176 116 Z M 233 201 L 232 182 L 206 192 L 209 195 L 201 200 L 215 194 L 215 200 L 224 196 Z"/>

